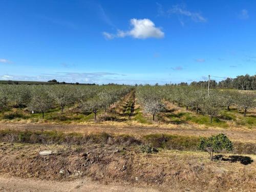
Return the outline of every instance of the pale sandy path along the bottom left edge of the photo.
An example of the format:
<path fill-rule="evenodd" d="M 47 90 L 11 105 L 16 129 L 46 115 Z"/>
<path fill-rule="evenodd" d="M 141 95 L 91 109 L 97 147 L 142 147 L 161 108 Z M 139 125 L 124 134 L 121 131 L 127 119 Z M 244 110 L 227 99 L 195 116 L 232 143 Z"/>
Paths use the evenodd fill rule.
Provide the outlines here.
<path fill-rule="evenodd" d="M 131 192 L 155 192 L 159 191 L 153 188 L 138 188 L 131 186 L 121 186 L 119 184 L 104 185 L 98 182 L 91 181 L 90 179 L 77 179 L 74 181 L 44 181 L 44 180 L 32 180 L 21 178 L 7 178 L 0 176 L 0 191 L 12 191 L 12 192 L 28 192 L 28 191 L 131 191 Z"/>

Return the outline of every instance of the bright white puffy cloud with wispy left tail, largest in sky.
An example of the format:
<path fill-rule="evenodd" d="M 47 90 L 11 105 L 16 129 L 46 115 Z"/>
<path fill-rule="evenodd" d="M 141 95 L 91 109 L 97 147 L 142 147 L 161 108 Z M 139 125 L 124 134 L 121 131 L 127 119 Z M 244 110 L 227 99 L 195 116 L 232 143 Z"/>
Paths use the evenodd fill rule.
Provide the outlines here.
<path fill-rule="evenodd" d="M 164 37 L 164 32 L 162 32 L 160 28 L 156 27 L 155 24 L 150 19 L 133 18 L 130 20 L 130 23 L 131 26 L 133 26 L 133 28 L 130 31 L 117 30 L 116 34 L 111 34 L 108 32 L 103 32 L 102 34 L 107 39 L 113 39 L 115 37 L 122 38 L 125 36 L 132 36 L 138 39 Z"/>

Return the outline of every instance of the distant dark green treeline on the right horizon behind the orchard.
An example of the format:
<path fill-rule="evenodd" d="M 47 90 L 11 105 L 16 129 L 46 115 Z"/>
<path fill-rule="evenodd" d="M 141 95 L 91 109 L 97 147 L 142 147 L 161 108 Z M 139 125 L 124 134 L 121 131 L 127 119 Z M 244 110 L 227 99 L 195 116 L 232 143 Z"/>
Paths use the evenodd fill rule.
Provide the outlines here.
<path fill-rule="evenodd" d="M 178 85 L 186 86 L 188 84 L 181 82 Z M 208 88 L 208 81 L 193 81 L 189 85 L 206 89 Z M 239 75 L 237 78 L 227 78 L 219 82 L 210 80 L 210 88 L 256 90 L 256 75 Z"/>

